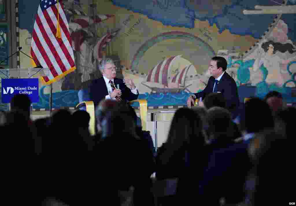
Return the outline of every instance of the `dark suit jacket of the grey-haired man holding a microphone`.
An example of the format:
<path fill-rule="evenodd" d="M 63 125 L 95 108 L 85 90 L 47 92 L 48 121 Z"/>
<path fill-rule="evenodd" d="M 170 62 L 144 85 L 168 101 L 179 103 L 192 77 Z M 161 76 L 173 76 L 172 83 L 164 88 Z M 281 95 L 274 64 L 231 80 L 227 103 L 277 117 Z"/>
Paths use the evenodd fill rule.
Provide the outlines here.
<path fill-rule="evenodd" d="M 133 94 L 131 89 L 129 89 L 123 82 L 122 79 L 114 78 L 115 87 L 119 84 L 119 89 L 121 90 L 121 99 L 124 101 L 135 100 L 139 96 L 138 94 Z M 94 101 L 94 106 L 97 106 L 102 99 L 105 99 L 106 95 L 109 95 L 104 77 L 99 79 L 94 79 L 90 85 L 90 99 Z"/>

